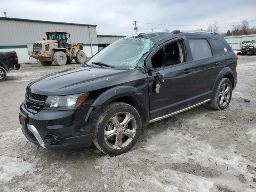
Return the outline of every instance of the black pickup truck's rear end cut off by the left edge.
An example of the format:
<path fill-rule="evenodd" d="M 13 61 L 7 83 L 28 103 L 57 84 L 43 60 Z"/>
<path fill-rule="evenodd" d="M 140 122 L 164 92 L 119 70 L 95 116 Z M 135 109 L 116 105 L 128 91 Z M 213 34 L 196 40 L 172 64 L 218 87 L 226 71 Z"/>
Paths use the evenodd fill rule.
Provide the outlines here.
<path fill-rule="evenodd" d="M 15 51 L 0 52 L 0 82 L 4 81 L 6 73 L 13 69 L 20 69 L 17 53 Z"/>

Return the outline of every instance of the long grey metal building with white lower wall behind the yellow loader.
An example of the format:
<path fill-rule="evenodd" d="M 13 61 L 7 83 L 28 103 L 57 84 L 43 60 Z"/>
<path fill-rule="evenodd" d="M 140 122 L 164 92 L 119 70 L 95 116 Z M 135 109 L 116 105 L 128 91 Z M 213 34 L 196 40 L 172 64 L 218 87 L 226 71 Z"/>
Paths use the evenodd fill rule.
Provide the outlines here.
<path fill-rule="evenodd" d="M 35 62 L 30 58 L 32 43 L 46 38 L 45 32 L 65 31 L 69 41 L 82 42 L 87 57 L 98 52 L 97 25 L 76 24 L 0 17 L 0 52 L 16 51 L 20 63 Z"/>

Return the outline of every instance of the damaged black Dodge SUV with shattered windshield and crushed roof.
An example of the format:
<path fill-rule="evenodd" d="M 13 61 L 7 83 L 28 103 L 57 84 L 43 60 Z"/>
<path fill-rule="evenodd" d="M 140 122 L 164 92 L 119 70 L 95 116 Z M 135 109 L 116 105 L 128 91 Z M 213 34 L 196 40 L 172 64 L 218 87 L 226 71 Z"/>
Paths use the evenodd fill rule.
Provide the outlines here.
<path fill-rule="evenodd" d="M 223 37 L 141 33 L 104 48 L 80 67 L 30 83 L 20 105 L 24 135 L 47 149 L 94 145 L 118 155 L 146 125 L 203 103 L 225 109 L 238 57 Z"/>

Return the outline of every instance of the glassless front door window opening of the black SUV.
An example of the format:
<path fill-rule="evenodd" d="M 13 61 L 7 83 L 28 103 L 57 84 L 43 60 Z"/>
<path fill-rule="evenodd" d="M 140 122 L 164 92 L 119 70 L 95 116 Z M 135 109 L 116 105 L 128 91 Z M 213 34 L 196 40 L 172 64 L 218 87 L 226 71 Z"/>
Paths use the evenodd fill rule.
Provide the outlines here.
<path fill-rule="evenodd" d="M 183 63 L 184 54 L 182 51 L 182 42 L 177 41 L 167 44 L 161 48 L 151 58 L 153 68 L 160 68 Z"/>

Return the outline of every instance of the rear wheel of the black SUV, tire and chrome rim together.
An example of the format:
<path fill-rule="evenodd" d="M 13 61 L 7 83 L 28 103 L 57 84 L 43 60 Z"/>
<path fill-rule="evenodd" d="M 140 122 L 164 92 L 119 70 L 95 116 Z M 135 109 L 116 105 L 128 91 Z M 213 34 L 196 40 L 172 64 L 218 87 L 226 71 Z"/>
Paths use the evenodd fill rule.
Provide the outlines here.
<path fill-rule="evenodd" d="M 218 86 L 216 95 L 211 101 L 211 107 L 217 110 L 226 109 L 231 100 L 232 89 L 232 83 L 230 82 L 230 80 L 227 78 L 222 78 Z"/>

